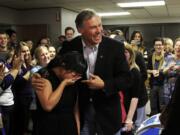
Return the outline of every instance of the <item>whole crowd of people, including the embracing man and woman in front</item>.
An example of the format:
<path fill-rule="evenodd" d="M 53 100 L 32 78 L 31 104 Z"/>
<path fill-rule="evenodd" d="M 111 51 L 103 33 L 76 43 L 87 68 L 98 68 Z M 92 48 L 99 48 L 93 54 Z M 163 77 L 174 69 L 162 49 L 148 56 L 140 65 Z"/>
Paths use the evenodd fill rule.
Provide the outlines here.
<path fill-rule="evenodd" d="M 17 42 L 14 30 L 0 33 L 5 135 L 27 134 L 30 120 L 32 135 L 133 135 L 147 117 L 148 100 L 150 116 L 174 101 L 180 38 L 157 37 L 148 50 L 140 31 L 129 40 L 121 30 L 105 31 L 91 9 L 75 24 L 80 35 L 67 27 L 57 45 L 48 37 L 34 46 Z"/>

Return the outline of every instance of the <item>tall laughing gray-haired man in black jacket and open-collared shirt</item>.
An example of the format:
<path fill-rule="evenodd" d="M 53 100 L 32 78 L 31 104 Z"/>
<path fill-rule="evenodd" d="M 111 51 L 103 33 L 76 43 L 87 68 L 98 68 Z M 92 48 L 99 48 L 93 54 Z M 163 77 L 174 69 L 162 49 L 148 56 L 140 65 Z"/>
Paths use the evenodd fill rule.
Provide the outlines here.
<path fill-rule="evenodd" d="M 59 54 L 78 51 L 88 63 L 79 84 L 81 135 L 120 135 L 118 92 L 130 82 L 124 45 L 102 36 L 101 18 L 93 10 L 81 11 L 75 22 L 81 36 L 64 45 Z"/>

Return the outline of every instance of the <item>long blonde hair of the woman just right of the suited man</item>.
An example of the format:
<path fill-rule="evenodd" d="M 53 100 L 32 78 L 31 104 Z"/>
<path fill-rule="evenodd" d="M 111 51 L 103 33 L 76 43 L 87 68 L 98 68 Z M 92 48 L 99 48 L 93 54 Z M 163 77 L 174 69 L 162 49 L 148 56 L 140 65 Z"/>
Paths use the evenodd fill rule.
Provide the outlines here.
<path fill-rule="evenodd" d="M 129 54 L 130 54 L 130 59 L 129 59 L 129 68 L 130 68 L 130 70 L 133 69 L 133 68 L 136 68 L 136 69 L 140 70 L 139 66 L 135 62 L 136 55 L 135 55 L 135 52 L 134 52 L 132 46 L 129 45 L 129 44 L 126 44 L 125 45 L 125 50 L 127 50 L 129 52 Z"/>

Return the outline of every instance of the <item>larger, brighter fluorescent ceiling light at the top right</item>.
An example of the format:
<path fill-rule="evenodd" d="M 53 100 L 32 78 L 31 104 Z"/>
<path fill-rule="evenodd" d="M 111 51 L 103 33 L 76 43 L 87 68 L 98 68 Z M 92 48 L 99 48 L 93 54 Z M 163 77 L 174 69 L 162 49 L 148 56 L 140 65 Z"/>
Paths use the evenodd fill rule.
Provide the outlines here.
<path fill-rule="evenodd" d="M 117 3 L 118 6 L 128 7 L 147 7 L 147 6 L 163 6 L 164 1 L 143 1 L 143 2 L 128 2 L 128 3 Z"/>

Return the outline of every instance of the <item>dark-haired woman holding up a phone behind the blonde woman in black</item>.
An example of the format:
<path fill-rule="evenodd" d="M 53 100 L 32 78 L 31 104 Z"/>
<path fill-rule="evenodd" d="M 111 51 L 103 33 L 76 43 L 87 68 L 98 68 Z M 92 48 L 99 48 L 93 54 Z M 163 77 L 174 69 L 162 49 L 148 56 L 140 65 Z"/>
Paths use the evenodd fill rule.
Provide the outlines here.
<path fill-rule="evenodd" d="M 135 121 L 136 129 L 141 125 L 141 123 L 146 119 L 145 106 L 148 101 L 147 90 L 145 86 L 145 81 L 147 79 L 147 68 L 145 56 L 143 56 L 139 47 L 143 44 L 143 37 L 140 31 L 134 31 L 131 36 L 131 46 L 135 52 L 136 58 L 135 62 L 139 66 L 141 72 L 141 92 L 139 95 L 139 102 L 137 107 L 137 119 Z M 147 58 L 147 57 L 146 57 Z"/>

